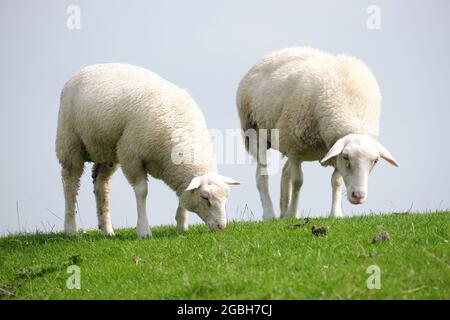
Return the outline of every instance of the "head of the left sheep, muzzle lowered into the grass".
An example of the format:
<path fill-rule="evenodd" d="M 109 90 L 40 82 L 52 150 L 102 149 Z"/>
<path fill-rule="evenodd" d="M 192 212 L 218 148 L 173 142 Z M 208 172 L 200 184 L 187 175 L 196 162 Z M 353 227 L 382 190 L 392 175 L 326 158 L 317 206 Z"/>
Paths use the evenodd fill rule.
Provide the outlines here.
<path fill-rule="evenodd" d="M 184 209 L 197 213 L 210 229 L 225 229 L 229 184 L 240 183 L 215 173 L 195 177 L 181 194 L 180 204 Z"/>

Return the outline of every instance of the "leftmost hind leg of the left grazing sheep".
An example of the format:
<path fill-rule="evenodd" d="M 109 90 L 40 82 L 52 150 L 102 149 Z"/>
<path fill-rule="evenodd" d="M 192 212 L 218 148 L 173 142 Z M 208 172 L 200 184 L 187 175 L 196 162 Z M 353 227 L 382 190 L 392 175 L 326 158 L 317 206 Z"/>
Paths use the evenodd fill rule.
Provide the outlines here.
<path fill-rule="evenodd" d="M 70 166 L 70 168 L 63 167 L 61 172 L 66 202 L 64 232 L 68 235 L 75 235 L 77 233 L 77 222 L 75 218 L 76 201 L 83 167 L 83 163 L 78 166 Z"/>

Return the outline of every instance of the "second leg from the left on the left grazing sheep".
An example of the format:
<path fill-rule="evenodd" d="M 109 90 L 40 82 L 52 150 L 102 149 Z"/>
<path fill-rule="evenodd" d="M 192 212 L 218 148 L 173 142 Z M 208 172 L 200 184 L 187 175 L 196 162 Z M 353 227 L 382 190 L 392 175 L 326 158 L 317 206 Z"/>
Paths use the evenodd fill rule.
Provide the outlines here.
<path fill-rule="evenodd" d="M 106 236 L 114 236 L 109 211 L 109 181 L 117 170 L 117 164 L 94 164 L 92 179 L 97 202 L 98 228 Z"/>

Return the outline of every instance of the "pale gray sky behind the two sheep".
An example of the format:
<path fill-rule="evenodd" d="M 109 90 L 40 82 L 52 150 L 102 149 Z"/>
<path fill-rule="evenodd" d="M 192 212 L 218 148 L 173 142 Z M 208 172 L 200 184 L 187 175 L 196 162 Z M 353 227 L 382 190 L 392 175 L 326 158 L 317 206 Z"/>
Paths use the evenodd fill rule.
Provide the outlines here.
<path fill-rule="evenodd" d="M 69 5 L 81 9 L 81 29 L 66 26 Z M 381 29 L 368 29 L 369 5 L 379 6 Z M 0 234 L 61 230 L 64 199 L 54 151 L 59 94 L 86 65 L 128 62 L 187 89 L 210 128 L 239 128 L 235 94 L 247 70 L 266 53 L 311 46 L 365 61 L 383 95 L 380 141 L 401 164 L 380 162 L 362 206 L 346 200 L 344 215 L 428 211 L 450 207 L 450 2 L 433 1 L 61 1 L 0 0 Z M 242 145 L 240 145 L 242 149 Z M 97 225 L 86 166 L 78 225 Z M 231 219 L 261 218 L 253 165 L 222 165 L 242 181 L 228 201 Z M 326 215 L 330 168 L 304 165 L 300 211 Z M 279 201 L 280 176 L 270 177 Z M 132 189 L 112 181 L 114 227 L 135 226 Z M 151 225 L 173 224 L 177 199 L 150 180 Z M 278 210 L 277 210 L 278 212 Z M 192 223 L 199 222 L 191 216 Z"/>

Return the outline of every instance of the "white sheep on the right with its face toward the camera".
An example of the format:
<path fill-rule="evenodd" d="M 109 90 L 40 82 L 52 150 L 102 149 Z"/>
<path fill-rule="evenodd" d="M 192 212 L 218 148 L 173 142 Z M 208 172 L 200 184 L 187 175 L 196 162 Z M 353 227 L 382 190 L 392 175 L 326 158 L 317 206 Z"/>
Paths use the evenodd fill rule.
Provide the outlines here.
<path fill-rule="evenodd" d="M 368 194 L 368 175 L 378 158 L 399 164 L 376 141 L 381 96 L 375 77 L 360 60 L 312 48 L 286 48 L 264 56 L 244 76 L 237 91 L 242 130 L 278 130 L 268 148 L 287 157 L 281 178 L 280 217 L 297 217 L 303 161 L 334 167 L 331 217 L 342 217 L 341 191 L 352 204 Z M 256 159 L 256 184 L 263 218 L 275 217 L 268 190 L 266 149 L 245 146 Z M 255 141 L 253 141 L 255 142 Z M 261 143 L 261 141 L 260 141 Z M 264 144 L 266 141 L 264 141 Z M 259 149 L 259 150 L 258 150 Z"/>

